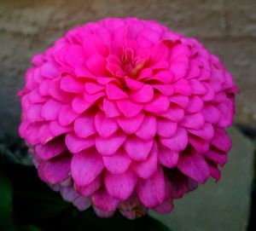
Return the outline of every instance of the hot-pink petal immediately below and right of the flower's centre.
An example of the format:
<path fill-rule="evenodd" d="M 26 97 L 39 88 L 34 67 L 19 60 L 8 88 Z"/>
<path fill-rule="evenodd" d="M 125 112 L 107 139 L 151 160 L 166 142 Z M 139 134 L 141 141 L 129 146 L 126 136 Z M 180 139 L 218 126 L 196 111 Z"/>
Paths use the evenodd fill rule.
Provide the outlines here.
<path fill-rule="evenodd" d="M 136 102 L 148 102 L 153 99 L 154 90 L 151 85 L 145 84 L 140 90 L 131 92 L 130 98 Z"/>

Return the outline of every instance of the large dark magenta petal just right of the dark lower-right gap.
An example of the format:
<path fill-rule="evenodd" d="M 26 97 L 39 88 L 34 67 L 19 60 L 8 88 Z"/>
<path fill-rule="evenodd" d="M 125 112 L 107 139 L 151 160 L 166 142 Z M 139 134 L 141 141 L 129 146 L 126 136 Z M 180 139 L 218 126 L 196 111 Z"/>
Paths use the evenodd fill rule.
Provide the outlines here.
<path fill-rule="evenodd" d="M 184 175 L 200 183 L 206 182 L 210 176 L 210 170 L 206 160 L 197 153 L 183 153 L 180 155 L 177 168 L 181 170 Z"/>

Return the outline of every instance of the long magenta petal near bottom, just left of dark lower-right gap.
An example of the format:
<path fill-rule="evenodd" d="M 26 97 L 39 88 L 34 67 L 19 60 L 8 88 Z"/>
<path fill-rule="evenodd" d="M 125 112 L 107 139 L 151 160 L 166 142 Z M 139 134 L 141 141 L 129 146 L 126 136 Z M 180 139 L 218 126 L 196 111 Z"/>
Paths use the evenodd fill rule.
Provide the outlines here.
<path fill-rule="evenodd" d="M 165 176 L 161 168 L 158 168 L 154 176 L 148 179 L 140 179 L 137 182 L 137 194 L 143 205 L 148 208 L 163 203 L 165 199 Z"/>

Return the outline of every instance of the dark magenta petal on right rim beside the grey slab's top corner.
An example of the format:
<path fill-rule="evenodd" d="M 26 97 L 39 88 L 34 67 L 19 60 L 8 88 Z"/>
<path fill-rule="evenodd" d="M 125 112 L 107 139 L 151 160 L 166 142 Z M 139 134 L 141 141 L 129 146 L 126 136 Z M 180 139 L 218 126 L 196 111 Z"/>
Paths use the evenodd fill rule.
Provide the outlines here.
<path fill-rule="evenodd" d="M 230 148 L 232 147 L 230 137 L 228 136 L 227 132 L 221 128 L 215 128 L 211 144 L 219 150 L 224 151 L 224 153 L 229 152 Z"/>

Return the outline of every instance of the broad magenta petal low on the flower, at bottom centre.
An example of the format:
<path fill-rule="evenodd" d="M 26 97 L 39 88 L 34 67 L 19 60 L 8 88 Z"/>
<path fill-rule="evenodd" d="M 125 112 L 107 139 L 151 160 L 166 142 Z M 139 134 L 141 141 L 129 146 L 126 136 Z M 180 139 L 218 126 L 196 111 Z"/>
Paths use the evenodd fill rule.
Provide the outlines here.
<path fill-rule="evenodd" d="M 131 196 L 137 183 L 137 176 L 131 169 L 119 174 L 107 171 L 104 179 L 108 193 L 121 200 L 128 199 Z"/>

